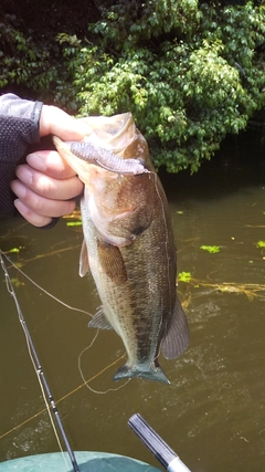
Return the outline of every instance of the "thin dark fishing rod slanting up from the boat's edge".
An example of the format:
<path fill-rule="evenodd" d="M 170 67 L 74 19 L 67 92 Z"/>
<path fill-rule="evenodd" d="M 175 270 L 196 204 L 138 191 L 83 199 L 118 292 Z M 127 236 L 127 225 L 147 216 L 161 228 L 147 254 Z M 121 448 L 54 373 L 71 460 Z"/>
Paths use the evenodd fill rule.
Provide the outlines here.
<path fill-rule="evenodd" d="M 71 448 L 71 445 L 70 445 L 70 442 L 68 442 L 67 436 L 66 436 L 66 433 L 65 433 L 65 430 L 64 430 L 63 423 L 62 423 L 61 418 L 60 418 L 60 415 L 59 415 L 59 410 L 57 410 L 56 403 L 55 403 L 55 401 L 54 401 L 54 399 L 53 399 L 53 397 L 52 397 L 52 394 L 51 394 L 51 390 L 50 390 L 49 384 L 47 384 L 46 378 L 45 378 L 45 376 L 44 376 L 44 373 L 43 373 L 43 369 L 42 369 L 41 363 L 40 363 L 40 360 L 39 360 L 39 357 L 38 357 L 38 354 L 36 354 L 36 350 L 35 350 L 34 344 L 33 344 L 33 340 L 32 340 L 31 335 L 30 335 L 30 332 L 29 332 L 29 329 L 28 329 L 28 326 L 26 326 L 26 323 L 25 323 L 25 319 L 24 319 L 23 313 L 22 313 L 22 311 L 21 311 L 21 308 L 20 308 L 20 305 L 19 305 L 18 298 L 17 298 L 17 295 L 15 295 L 15 292 L 14 292 L 13 284 L 12 284 L 12 282 L 11 282 L 10 276 L 9 276 L 7 265 L 4 264 L 4 261 L 3 261 L 3 255 L 4 255 L 4 258 L 6 258 L 9 262 L 11 262 L 11 264 L 12 264 L 12 261 L 11 261 L 11 260 L 10 260 L 10 259 L 9 259 L 9 258 L 8 258 L 8 256 L 7 256 L 7 255 L 6 255 L 6 254 L 0 250 L 0 263 L 1 263 L 1 266 L 2 266 L 2 270 L 3 270 L 3 273 L 4 273 L 6 283 L 7 283 L 7 289 L 8 289 L 8 292 L 10 293 L 10 295 L 12 295 L 12 297 L 13 297 L 13 300 L 14 300 L 14 304 L 15 304 L 15 307 L 17 307 L 17 311 L 18 311 L 19 319 L 20 319 L 20 323 L 21 323 L 22 328 L 23 328 L 23 331 L 24 331 L 25 338 L 26 338 L 26 342 L 28 342 L 28 345 L 29 345 L 29 348 L 30 348 L 30 353 L 31 353 L 31 355 L 32 355 L 32 359 L 33 359 L 33 365 L 34 365 L 35 374 L 36 374 L 36 376 L 39 377 L 39 379 L 40 379 L 40 381 L 41 381 L 41 385 L 43 386 L 44 391 L 45 391 L 45 394 L 46 394 L 46 397 L 47 397 L 47 399 L 49 399 L 49 402 L 50 402 L 51 409 L 52 409 L 52 411 L 53 411 L 53 413 L 54 413 L 54 417 L 55 417 L 55 419 L 56 419 L 56 422 L 57 422 L 57 426 L 59 426 L 60 432 L 61 432 L 61 434 L 62 434 L 62 438 L 63 438 L 63 441 L 64 441 L 65 448 L 66 448 L 67 453 L 68 453 L 68 457 L 70 457 L 70 459 L 71 459 L 71 462 L 72 462 L 72 465 L 73 465 L 74 472 L 80 472 L 80 469 L 78 469 L 78 465 L 77 465 L 77 462 L 76 462 L 76 459 L 75 459 L 74 451 L 72 450 L 72 448 Z"/>

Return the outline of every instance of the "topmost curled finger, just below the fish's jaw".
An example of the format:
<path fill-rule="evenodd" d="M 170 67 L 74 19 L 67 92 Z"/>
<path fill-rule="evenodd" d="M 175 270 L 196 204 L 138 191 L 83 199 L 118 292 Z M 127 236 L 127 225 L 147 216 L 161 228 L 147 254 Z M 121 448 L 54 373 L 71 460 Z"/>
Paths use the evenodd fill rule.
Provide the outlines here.
<path fill-rule="evenodd" d="M 65 179 L 75 175 L 75 171 L 55 150 L 38 150 L 26 156 L 26 162 L 40 172 L 55 179 Z"/>

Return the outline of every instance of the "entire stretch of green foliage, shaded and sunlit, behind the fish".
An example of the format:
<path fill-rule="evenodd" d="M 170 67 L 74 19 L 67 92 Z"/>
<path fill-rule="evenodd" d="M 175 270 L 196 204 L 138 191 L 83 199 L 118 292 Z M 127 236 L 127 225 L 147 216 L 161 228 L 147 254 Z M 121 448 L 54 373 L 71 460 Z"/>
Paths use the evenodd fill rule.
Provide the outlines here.
<path fill-rule="evenodd" d="M 255 52 L 265 38 L 264 1 L 103 0 L 92 8 L 88 32 L 80 34 L 76 22 L 76 34 L 52 35 L 47 21 L 41 40 L 6 14 L 0 86 L 23 84 L 81 115 L 130 111 L 156 166 L 171 172 L 197 171 L 265 105 L 264 52 Z M 53 15 L 49 9 L 56 24 Z"/>

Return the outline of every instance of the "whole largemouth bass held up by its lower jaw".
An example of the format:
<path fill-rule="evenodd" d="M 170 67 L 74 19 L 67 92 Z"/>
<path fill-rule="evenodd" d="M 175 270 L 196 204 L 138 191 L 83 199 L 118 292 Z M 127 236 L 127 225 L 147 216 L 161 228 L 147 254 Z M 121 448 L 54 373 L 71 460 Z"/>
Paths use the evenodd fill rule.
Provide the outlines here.
<path fill-rule="evenodd" d="M 81 119 L 92 128 L 85 140 L 54 144 L 84 182 L 80 275 L 92 273 L 102 302 L 88 326 L 115 329 L 124 343 L 113 380 L 170 384 L 158 357 L 182 355 L 189 326 L 165 190 L 130 113 Z"/>

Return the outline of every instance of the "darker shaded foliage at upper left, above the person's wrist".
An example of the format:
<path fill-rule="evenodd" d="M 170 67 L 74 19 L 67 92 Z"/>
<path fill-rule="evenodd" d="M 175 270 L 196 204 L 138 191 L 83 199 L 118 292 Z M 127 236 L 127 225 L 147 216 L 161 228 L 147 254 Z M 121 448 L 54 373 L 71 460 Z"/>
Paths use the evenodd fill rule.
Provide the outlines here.
<path fill-rule="evenodd" d="M 80 44 L 77 38 L 66 34 L 70 48 L 61 54 L 59 43 L 64 42 L 63 34 L 44 43 L 35 41 L 31 33 L 22 31 L 15 15 L 6 14 L 0 21 L 0 87 L 11 85 L 15 90 L 23 86 L 30 97 L 77 111 L 75 91 L 73 88 L 72 93 L 71 88 L 71 59 Z"/>

